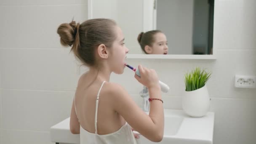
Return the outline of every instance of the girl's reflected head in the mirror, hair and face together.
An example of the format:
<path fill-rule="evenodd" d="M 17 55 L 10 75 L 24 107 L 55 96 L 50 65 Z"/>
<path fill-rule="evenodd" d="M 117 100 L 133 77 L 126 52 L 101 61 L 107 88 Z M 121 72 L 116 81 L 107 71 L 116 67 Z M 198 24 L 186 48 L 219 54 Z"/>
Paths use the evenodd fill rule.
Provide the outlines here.
<path fill-rule="evenodd" d="M 141 32 L 138 36 L 138 42 L 146 54 L 168 54 L 166 36 L 160 30 Z"/>

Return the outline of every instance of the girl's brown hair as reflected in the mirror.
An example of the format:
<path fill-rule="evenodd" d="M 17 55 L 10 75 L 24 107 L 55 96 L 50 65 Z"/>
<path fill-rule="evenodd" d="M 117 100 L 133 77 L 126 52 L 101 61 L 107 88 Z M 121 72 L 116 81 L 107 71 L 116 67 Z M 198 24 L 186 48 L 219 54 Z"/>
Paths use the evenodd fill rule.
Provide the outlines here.
<path fill-rule="evenodd" d="M 151 31 L 148 31 L 148 32 L 141 32 L 138 36 L 138 42 L 139 42 L 139 45 L 141 46 L 141 49 L 142 51 L 144 51 L 144 53 L 148 54 L 146 51 L 145 51 L 145 46 L 146 45 L 149 45 L 149 46 L 152 46 L 152 43 L 155 42 L 155 37 L 154 35 L 161 32 L 160 30 L 151 30 Z"/>

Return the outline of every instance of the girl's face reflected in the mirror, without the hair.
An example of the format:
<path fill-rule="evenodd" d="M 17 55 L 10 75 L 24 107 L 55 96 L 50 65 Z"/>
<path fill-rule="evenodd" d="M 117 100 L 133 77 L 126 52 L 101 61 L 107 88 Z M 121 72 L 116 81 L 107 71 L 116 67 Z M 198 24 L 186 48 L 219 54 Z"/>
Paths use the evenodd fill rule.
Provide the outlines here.
<path fill-rule="evenodd" d="M 168 43 L 165 34 L 158 32 L 154 35 L 155 42 L 148 48 L 148 54 L 168 54 Z"/>

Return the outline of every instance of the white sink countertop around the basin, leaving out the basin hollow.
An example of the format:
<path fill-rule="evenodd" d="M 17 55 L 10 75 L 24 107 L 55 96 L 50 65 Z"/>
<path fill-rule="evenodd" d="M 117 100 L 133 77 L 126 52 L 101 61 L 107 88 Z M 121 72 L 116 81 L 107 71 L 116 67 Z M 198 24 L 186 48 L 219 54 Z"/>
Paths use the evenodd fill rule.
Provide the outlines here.
<path fill-rule="evenodd" d="M 204 117 L 190 117 L 183 110 L 164 109 L 165 117 L 183 117 L 179 130 L 174 135 L 164 133 L 163 140 L 168 141 L 204 141 L 202 144 L 213 143 L 214 112 L 207 112 Z M 69 130 L 69 119 L 51 127 L 51 141 L 60 143 L 80 144 L 80 135 L 72 134 Z M 165 121 L 165 123 L 168 123 Z"/>

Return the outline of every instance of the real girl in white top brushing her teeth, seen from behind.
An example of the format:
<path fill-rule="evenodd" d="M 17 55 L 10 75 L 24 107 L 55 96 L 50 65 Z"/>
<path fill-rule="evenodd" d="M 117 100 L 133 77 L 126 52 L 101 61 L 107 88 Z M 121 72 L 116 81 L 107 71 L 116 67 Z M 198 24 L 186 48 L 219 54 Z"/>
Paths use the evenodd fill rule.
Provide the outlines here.
<path fill-rule="evenodd" d="M 139 65 L 135 78 L 149 89 L 147 115 L 120 85 L 110 83 L 112 72 L 122 74 L 128 48 L 123 32 L 110 19 L 90 19 L 82 24 L 61 24 L 57 30 L 61 44 L 87 67 L 77 84 L 70 131 L 80 133 L 80 144 L 136 144 L 131 127 L 151 141 L 163 138 L 164 113 L 157 73 Z M 136 135 L 138 136 L 138 135 Z"/>

